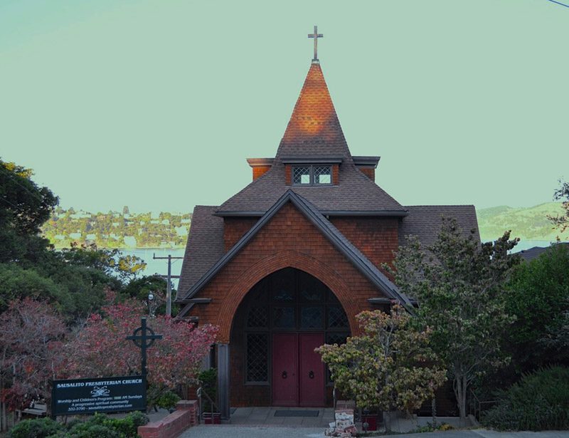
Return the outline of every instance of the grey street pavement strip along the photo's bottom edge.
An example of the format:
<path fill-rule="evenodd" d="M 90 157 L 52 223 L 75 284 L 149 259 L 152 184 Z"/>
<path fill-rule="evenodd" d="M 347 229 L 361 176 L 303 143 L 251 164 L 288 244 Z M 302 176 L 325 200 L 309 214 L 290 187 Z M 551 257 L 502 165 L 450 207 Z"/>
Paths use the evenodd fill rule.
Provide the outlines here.
<path fill-rule="evenodd" d="M 494 432 L 454 430 L 426 434 L 397 434 L 393 438 L 568 438 L 569 432 Z M 249 427 L 204 425 L 191 427 L 179 438 L 322 438 L 324 430 L 314 427 Z"/>

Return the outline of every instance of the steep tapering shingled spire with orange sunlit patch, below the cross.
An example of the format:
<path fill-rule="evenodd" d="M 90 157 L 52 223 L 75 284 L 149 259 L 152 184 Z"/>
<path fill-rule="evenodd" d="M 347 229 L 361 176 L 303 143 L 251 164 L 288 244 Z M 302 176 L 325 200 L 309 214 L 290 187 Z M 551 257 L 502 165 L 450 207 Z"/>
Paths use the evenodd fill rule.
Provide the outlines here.
<path fill-rule="evenodd" d="M 277 151 L 289 155 L 350 157 L 319 63 L 312 63 Z"/>

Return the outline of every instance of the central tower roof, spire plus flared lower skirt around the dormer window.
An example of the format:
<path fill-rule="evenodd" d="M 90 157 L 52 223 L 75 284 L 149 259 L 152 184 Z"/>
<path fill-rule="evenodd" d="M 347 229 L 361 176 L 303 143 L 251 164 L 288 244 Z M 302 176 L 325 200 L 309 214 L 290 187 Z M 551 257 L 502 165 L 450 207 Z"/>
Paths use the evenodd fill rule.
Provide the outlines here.
<path fill-rule="evenodd" d="M 341 160 L 339 184 L 299 187 L 285 184 L 285 165 L 290 157 L 333 157 Z M 271 169 L 224 202 L 220 215 L 265 214 L 288 189 L 300 194 L 324 214 L 377 212 L 403 216 L 403 208 L 353 164 L 328 86 L 319 63 L 312 63 L 297 104 L 285 130 Z"/>

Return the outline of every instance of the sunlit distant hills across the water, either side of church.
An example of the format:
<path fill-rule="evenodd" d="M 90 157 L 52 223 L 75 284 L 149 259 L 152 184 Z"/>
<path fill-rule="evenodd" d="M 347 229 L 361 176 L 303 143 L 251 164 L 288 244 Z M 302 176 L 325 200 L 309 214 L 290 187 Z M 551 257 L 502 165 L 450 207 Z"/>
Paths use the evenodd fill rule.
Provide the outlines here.
<path fill-rule="evenodd" d="M 477 209 L 482 241 L 496 239 L 508 229 L 523 240 L 554 241 L 559 233 L 547 217 L 558 214 L 563 214 L 560 202 Z M 130 214 L 127 207 L 123 212 L 92 213 L 58 207 L 42 231 L 56 248 L 72 242 L 117 249 L 184 248 L 190 224 L 191 213 Z"/>

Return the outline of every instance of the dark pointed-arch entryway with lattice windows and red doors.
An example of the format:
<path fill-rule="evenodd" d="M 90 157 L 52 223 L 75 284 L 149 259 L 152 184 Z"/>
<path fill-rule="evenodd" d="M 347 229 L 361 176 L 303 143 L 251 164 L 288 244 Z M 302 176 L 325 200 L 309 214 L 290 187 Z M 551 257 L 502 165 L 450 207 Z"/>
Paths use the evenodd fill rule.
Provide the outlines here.
<path fill-rule="evenodd" d="M 296 268 L 275 271 L 251 288 L 234 323 L 232 367 L 242 370 L 234 405 L 329 405 L 329 374 L 314 348 L 344 343 L 350 330 L 324 283 Z"/>

